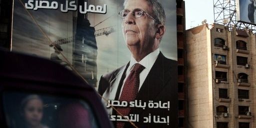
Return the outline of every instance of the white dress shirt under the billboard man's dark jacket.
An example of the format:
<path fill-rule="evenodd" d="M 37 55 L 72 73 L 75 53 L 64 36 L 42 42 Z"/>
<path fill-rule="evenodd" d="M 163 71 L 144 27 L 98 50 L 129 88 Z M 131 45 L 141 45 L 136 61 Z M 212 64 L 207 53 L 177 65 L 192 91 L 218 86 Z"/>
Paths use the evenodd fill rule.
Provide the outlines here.
<path fill-rule="evenodd" d="M 142 86 L 147 74 L 149 73 L 150 69 L 152 68 L 152 66 L 153 66 L 153 64 L 154 64 L 154 62 L 155 62 L 159 53 L 160 53 L 159 48 L 157 48 L 153 52 L 147 54 L 139 62 L 137 62 L 132 55 L 130 56 L 130 63 L 129 63 L 129 66 L 128 66 L 126 72 L 125 72 L 125 78 L 123 80 L 123 84 L 122 84 L 122 87 L 121 87 L 121 90 L 120 90 L 119 97 L 121 95 L 124 82 L 125 82 L 126 78 L 128 77 L 128 75 L 129 75 L 132 67 L 134 66 L 134 64 L 139 63 L 139 64 L 141 64 L 145 67 L 139 74 L 139 88 L 138 88 L 138 91 L 139 91 L 140 87 Z M 118 84 L 120 82 L 120 79 L 121 79 L 121 76 L 123 74 L 124 69 L 125 69 L 125 66 L 122 69 L 120 69 L 120 71 L 117 73 L 117 75 L 115 77 L 116 79 L 113 81 L 112 85 L 109 86 L 109 88 L 107 88 L 106 91 L 103 93 L 102 96 L 105 99 L 114 100 L 115 94 L 117 92 Z M 107 103 L 103 99 L 102 99 L 102 102 L 105 106 L 107 105 Z M 107 111 L 108 111 L 108 114 L 111 114 L 112 113 L 112 108 L 111 107 L 107 108 Z"/>

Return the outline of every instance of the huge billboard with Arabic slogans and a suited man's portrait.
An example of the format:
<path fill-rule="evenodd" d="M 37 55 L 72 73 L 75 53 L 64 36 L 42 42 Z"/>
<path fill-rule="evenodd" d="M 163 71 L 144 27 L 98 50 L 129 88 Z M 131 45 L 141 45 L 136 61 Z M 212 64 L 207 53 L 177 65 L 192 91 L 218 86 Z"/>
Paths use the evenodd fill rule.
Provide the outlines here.
<path fill-rule="evenodd" d="M 13 2 L 11 51 L 77 73 L 115 127 L 177 126 L 176 36 L 173 0 Z"/>

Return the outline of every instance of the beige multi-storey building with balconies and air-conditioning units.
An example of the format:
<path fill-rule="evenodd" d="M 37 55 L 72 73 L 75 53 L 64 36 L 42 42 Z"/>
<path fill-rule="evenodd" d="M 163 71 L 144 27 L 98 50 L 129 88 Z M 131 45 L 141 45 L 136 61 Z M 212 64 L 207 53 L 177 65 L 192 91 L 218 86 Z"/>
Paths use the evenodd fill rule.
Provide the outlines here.
<path fill-rule="evenodd" d="M 188 127 L 256 127 L 255 35 L 205 23 L 186 31 L 186 50 Z"/>

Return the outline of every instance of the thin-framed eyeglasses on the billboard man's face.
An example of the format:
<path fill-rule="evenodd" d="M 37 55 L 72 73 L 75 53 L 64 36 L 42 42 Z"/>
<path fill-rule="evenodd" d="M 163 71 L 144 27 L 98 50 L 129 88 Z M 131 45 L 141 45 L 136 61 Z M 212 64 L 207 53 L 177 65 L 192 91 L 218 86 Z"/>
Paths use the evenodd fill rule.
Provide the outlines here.
<path fill-rule="evenodd" d="M 122 9 L 122 10 L 120 10 L 120 12 L 118 14 L 122 19 L 124 19 L 128 15 L 129 12 L 130 12 L 130 10 L 128 10 L 128 9 Z M 148 13 L 146 13 L 144 10 L 142 10 L 140 8 L 135 8 L 131 12 L 132 12 L 132 16 L 134 18 L 139 18 L 143 15 L 143 13 L 145 13 L 148 17 L 152 18 L 154 21 L 161 24 L 159 21 L 154 19 L 151 15 L 149 15 Z"/>

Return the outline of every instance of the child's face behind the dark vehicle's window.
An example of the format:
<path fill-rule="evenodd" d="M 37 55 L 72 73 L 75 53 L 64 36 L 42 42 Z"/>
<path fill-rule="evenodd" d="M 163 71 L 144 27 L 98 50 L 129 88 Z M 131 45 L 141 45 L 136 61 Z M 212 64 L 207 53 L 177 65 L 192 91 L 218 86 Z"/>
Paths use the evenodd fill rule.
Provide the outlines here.
<path fill-rule="evenodd" d="M 42 119 L 43 103 L 40 99 L 30 99 L 24 107 L 24 117 L 28 125 L 38 126 Z"/>

